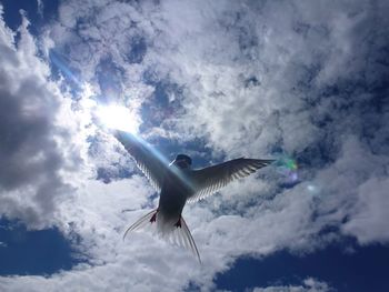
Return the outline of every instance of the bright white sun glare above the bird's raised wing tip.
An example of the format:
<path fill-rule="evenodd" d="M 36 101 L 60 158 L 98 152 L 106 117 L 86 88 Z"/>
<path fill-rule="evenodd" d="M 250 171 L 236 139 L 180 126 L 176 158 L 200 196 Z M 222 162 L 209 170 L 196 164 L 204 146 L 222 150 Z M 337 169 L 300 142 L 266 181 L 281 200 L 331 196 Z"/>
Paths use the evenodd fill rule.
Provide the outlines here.
<path fill-rule="evenodd" d="M 139 122 L 137 117 L 124 107 L 99 107 L 97 115 L 107 128 L 130 133 L 136 133 L 138 131 Z"/>

